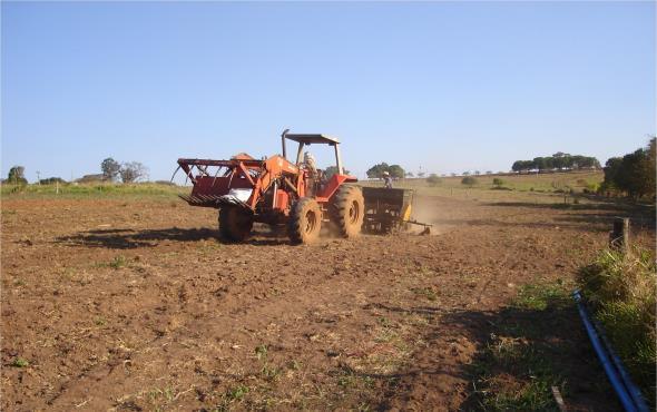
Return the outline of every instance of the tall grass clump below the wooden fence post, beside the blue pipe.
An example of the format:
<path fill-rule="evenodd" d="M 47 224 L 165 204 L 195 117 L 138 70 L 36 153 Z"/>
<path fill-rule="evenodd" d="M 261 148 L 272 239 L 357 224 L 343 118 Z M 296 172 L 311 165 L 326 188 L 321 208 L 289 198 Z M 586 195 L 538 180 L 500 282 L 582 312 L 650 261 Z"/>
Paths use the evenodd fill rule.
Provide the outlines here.
<path fill-rule="evenodd" d="M 578 273 L 594 316 L 653 408 L 657 377 L 656 269 L 654 253 L 635 247 L 627 254 L 604 251 Z"/>

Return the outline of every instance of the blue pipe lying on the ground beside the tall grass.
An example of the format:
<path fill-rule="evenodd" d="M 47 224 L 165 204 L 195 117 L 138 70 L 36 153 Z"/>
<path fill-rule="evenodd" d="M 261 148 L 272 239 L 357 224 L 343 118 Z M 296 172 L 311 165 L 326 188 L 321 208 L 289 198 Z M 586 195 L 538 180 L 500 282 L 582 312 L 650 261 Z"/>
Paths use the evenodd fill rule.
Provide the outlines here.
<path fill-rule="evenodd" d="M 601 330 L 597 330 L 589 313 L 584 304 L 581 294 L 579 291 L 572 293 L 575 302 L 577 302 L 577 308 L 584 323 L 584 326 L 591 340 L 591 344 L 596 354 L 600 359 L 600 363 L 607 373 L 607 377 L 614 386 L 622 408 L 627 412 L 647 412 L 648 405 L 644 400 L 639 389 L 631 382 L 629 374 L 622 366 L 622 362 L 611 350 L 609 341 L 605 336 Z"/>

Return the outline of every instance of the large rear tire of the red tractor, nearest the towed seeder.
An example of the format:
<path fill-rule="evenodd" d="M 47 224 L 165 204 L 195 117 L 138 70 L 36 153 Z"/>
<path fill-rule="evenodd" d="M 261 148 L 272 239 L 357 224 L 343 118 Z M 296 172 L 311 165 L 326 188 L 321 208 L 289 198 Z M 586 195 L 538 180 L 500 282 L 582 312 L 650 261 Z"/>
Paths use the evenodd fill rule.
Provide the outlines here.
<path fill-rule="evenodd" d="M 333 222 L 344 237 L 355 237 L 361 233 L 365 216 L 363 192 L 357 186 L 341 186 L 332 203 Z"/>

